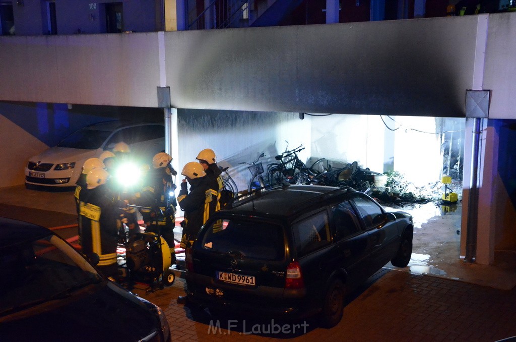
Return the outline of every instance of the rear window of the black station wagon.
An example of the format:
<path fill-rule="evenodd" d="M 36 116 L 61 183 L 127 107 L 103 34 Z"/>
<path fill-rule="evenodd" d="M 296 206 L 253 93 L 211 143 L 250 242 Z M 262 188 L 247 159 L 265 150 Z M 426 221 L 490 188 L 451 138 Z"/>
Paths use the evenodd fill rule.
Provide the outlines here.
<path fill-rule="evenodd" d="M 274 223 L 242 219 L 218 220 L 206 227 L 202 247 L 249 259 L 281 260 L 285 256 L 283 228 Z"/>

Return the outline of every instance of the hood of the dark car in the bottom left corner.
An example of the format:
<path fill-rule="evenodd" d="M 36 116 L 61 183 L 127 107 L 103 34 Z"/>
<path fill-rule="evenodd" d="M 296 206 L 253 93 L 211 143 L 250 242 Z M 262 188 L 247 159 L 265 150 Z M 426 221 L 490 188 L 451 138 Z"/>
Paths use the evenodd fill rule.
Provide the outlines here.
<path fill-rule="evenodd" d="M 11 319 L 12 318 L 12 319 Z M 137 341 L 156 331 L 157 316 L 110 282 L 66 299 L 0 318 L 2 341 Z"/>

